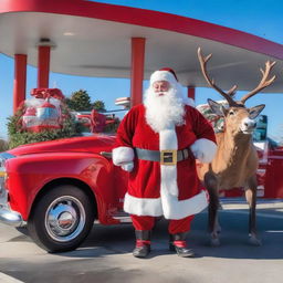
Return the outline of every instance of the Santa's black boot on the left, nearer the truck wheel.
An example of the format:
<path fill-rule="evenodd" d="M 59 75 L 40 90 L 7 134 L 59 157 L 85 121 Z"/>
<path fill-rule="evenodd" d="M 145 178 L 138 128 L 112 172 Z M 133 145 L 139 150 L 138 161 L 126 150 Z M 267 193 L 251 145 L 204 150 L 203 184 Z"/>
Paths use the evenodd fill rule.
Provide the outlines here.
<path fill-rule="evenodd" d="M 150 252 L 150 232 L 136 230 L 136 248 L 133 251 L 133 255 L 136 258 L 146 258 Z"/>

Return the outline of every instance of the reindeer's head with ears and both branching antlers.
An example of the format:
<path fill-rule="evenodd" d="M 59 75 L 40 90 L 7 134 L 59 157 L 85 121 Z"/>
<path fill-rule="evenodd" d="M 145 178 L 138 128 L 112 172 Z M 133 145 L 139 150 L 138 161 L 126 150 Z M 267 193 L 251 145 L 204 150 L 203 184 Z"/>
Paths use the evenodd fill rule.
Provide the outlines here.
<path fill-rule="evenodd" d="M 262 91 L 263 88 L 265 88 L 266 86 L 269 86 L 270 84 L 272 84 L 274 82 L 275 75 L 272 76 L 271 78 L 268 78 L 268 77 L 269 77 L 270 71 L 274 66 L 275 62 L 271 63 L 270 61 L 268 61 L 265 63 L 265 70 L 263 71 L 261 69 L 262 80 L 259 83 L 259 85 L 254 90 L 252 90 L 251 92 L 245 94 L 240 101 L 234 101 L 233 96 L 234 96 L 237 87 L 238 87 L 237 85 L 232 86 L 228 92 L 224 92 L 214 84 L 213 80 L 211 80 L 209 77 L 208 72 L 207 72 L 207 62 L 210 60 L 211 56 L 212 56 L 212 54 L 209 54 L 208 56 L 205 57 L 201 54 L 200 48 L 198 49 L 198 57 L 199 57 L 201 71 L 202 71 L 202 74 L 203 74 L 206 81 L 208 82 L 208 84 L 211 87 L 213 87 L 217 92 L 219 92 L 227 99 L 229 107 L 227 108 L 223 105 L 221 105 L 212 99 L 208 99 L 208 104 L 209 104 L 210 108 L 217 115 L 224 117 L 226 130 L 233 133 L 233 134 L 239 134 L 239 133 L 252 134 L 252 132 L 255 129 L 255 126 L 256 126 L 255 118 L 263 111 L 265 105 L 260 104 L 258 106 L 247 108 L 244 106 L 244 103 L 250 97 L 252 97 L 253 95 L 255 95 L 256 93 L 259 93 L 260 91 Z"/>

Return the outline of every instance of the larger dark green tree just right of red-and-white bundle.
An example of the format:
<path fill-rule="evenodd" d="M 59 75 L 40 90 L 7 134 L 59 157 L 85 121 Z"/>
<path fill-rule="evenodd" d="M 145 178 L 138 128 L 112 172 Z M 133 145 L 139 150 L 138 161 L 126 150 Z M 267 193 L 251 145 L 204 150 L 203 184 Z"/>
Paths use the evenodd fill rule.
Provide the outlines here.
<path fill-rule="evenodd" d="M 91 97 L 86 91 L 73 92 L 70 98 L 65 99 L 67 106 L 73 111 L 91 111 Z"/>

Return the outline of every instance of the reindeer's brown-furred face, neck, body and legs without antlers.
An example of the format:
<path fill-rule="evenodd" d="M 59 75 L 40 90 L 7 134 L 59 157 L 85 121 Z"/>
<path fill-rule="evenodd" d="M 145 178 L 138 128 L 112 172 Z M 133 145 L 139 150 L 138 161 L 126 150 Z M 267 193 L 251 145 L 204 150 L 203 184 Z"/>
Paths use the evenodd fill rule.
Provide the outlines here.
<path fill-rule="evenodd" d="M 214 103 L 214 102 L 213 102 Z M 255 106 L 256 111 L 263 106 Z M 256 205 L 256 169 L 259 165 L 258 154 L 252 143 L 252 132 L 255 124 L 243 133 L 240 125 L 249 118 L 252 108 L 242 106 L 223 109 L 226 129 L 216 135 L 218 149 L 211 164 L 199 164 L 198 175 L 203 181 L 210 195 L 209 228 L 211 231 L 211 244 L 219 245 L 218 208 L 219 189 L 229 190 L 244 187 L 245 198 L 250 207 L 249 234 L 252 244 L 260 244 L 256 239 L 255 205 Z M 232 113 L 232 115 L 230 115 Z"/>

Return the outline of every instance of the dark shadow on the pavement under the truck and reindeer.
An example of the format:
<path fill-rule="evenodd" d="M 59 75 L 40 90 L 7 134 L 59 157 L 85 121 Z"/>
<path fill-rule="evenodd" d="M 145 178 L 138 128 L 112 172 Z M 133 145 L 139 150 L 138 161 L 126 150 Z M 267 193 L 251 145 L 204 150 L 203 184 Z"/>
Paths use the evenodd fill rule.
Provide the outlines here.
<path fill-rule="evenodd" d="M 196 216 L 187 242 L 197 252 L 197 256 L 212 256 L 224 259 L 282 259 L 283 258 L 283 219 L 258 217 L 259 238 L 261 247 L 249 244 L 248 213 L 235 211 L 220 212 L 221 245 L 210 247 L 207 232 L 207 212 Z M 245 210 L 245 212 L 248 212 Z M 168 251 L 168 222 L 160 220 L 153 231 L 153 252 L 149 258 L 169 254 Z M 31 241 L 27 230 L 22 235 L 10 241 Z M 75 251 L 56 253 L 70 258 L 93 258 L 108 254 L 132 253 L 135 238 L 132 224 L 99 226 L 95 224 L 84 241 Z"/>

